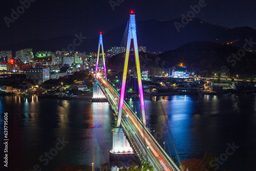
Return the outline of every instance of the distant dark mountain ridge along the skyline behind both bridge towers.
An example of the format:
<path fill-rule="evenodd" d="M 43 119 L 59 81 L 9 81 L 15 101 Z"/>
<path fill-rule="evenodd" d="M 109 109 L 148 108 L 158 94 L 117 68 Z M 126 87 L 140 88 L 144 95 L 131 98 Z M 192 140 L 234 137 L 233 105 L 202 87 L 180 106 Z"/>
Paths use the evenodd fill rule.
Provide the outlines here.
<path fill-rule="evenodd" d="M 184 28 L 177 31 L 174 23 L 181 23 L 181 19 L 172 19 L 166 22 L 157 20 L 146 20 L 137 22 L 138 41 L 140 46 L 146 46 L 147 51 L 163 52 L 166 50 L 177 49 L 188 42 L 194 41 L 212 41 L 219 44 L 229 44 L 242 47 L 245 44 L 244 39 L 256 41 L 256 30 L 249 27 L 240 27 L 228 29 L 225 27 L 208 24 L 201 19 L 191 19 Z M 126 25 L 122 25 L 103 34 L 104 49 L 109 50 L 113 46 L 120 46 Z M 77 33 L 78 35 L 80 33 Z M 81 33 L 86 37 L 86 33 Z M 55 37 L 48 40 L 29 40 L 15 45 L 0 47 L 1 50 L 12 50 L 13 52 L 33 48 L 33 51 L 40 50 L 62 50 L 67 49 L 69 44 L 73 44 L 75 36 Z M 86 39 L 75 51 L 96 52 L 98 47 L 98 37 Z"/>

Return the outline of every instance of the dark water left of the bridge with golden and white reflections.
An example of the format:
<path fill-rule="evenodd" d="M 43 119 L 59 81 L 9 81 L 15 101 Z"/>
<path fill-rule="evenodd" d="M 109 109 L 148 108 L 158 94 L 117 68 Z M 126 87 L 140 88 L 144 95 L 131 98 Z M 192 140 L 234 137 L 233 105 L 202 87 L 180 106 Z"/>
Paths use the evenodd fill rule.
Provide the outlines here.
<path fill-rule="evenodd" d="M 38 164 L 52 170 L 62 164 L 93 162 L 97 167 L 109 160 L 112 148 L 112 115 L 108 103 L 90 100 L 38 99 L 37 96 L 0 96 L 1 114 L 9 114 L 9 164 L 22 170 Z M 3 122 L 3 115 L 0 118 Z M 3 149 L 3 127 L 0 127 Z M 39 157 L 65 137 L 67 146 L 44 166 Z M 10 168 L 12 169 L 12 168 Z"/>

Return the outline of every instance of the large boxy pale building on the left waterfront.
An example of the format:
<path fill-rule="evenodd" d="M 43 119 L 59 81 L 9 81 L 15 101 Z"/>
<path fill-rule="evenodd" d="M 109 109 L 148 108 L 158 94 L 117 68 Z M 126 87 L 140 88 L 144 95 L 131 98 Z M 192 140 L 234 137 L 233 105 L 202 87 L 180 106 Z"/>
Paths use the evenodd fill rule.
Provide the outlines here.
<path fill-rule="evenodd" d="M 49 68 L 30 68 L 27 69 L 26 78 L 37 81 L 38 84 L 50 79 Z"/>

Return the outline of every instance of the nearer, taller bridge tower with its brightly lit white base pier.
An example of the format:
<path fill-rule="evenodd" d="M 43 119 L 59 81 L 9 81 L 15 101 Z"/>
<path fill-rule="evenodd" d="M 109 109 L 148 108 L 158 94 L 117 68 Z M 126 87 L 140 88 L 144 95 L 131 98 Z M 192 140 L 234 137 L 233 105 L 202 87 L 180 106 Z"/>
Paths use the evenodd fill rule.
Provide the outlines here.
<path fill-rule="evenodd" d="M 116 127 L 113 129 L 113 149 L 110 152 L 110 160 L 120 160 L 120 158 L 134 158 L 135 154 L 133 153 L 133 149 L 130 146 L 128 140 L 126 139 L 121 125 L 121 117 L 122 117 L 122 110 L 123 110 L 123 103 L 124 103 L 124 93 L 125 93 L 125 83 L 126 83 L 126 76 L 127 76 L 127 69 L 128 69 L 128 62 L 130 56 L 130 49 L 131 49 L 131 41 L 133 41 L 133 48 L 136 60 L 136 68 L 137 68 L 137 77 L 138 77 L 138 84 L 139 84 L 139 97 L 140 97 L 140 112 L 141 112 L 141 120 L 143 124 L 146 125 L 146 118 L 145 118 L 145 109 L 144 109 L 144 98 L 143 98 L 143 90 L 142 90 L 142 81 L 141 81 L 141 72 L 140 72 L 140 61 L 139 61 L 139 52 L 138 52 L 138 42 L 137 42 L 137 34 L 136 34 L 136 22 L 135 22 L 135 14 L 131 12 L 129 26 L 128 26 L 128 37 L 126 43 L 126 51 L 125 51 L 125 59 L 124 59 L 124 68 L 123 68 L 123 77 L 122 77 L 122 84 L 121 84 L 121 92 L 120 92 L 120 99 L 119 99 L 119 106 L 118 106 L 118 113 L 117 113 L 117 122 Z M 122 157 L 121 157 L 122 156 Z"/>

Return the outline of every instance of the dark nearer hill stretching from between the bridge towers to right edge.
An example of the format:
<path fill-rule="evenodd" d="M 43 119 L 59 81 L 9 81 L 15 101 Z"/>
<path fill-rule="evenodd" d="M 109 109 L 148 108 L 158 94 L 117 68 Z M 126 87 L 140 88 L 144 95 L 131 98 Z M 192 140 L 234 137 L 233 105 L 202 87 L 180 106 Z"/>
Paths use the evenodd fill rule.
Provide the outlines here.
<path fill-rule="evenodd" d="M 230 76 L 244 75 L 243 78 L 252 78 L 253 73 L 256 73 L 256 53 L 246 52 L 240 60 L 238 55 L 237 59 L 233 58 L 232 54 L 237 54 L 240 49 L 210 41 L 190 42 L 176 50 L 165 51 L 159 55 L 140 52 L 140 66 L 142 71 L 154 74 L 174 66 L 179 68 L 178 65 L 182 62 L 186 66 L 185 70 L 195 70 L 196 73 L 205 73 L 208 76 L 218 72 L 229 72 Z M 124 59 L 120 60 L 120 56 L 110 58 L 107 63 L 108 69 L 122 71 L 123 63 L 120 62 Z M 134 67 L 135 63 L 129 65 Z M 134 70 L 133 67 L 132 70 Z"/>

